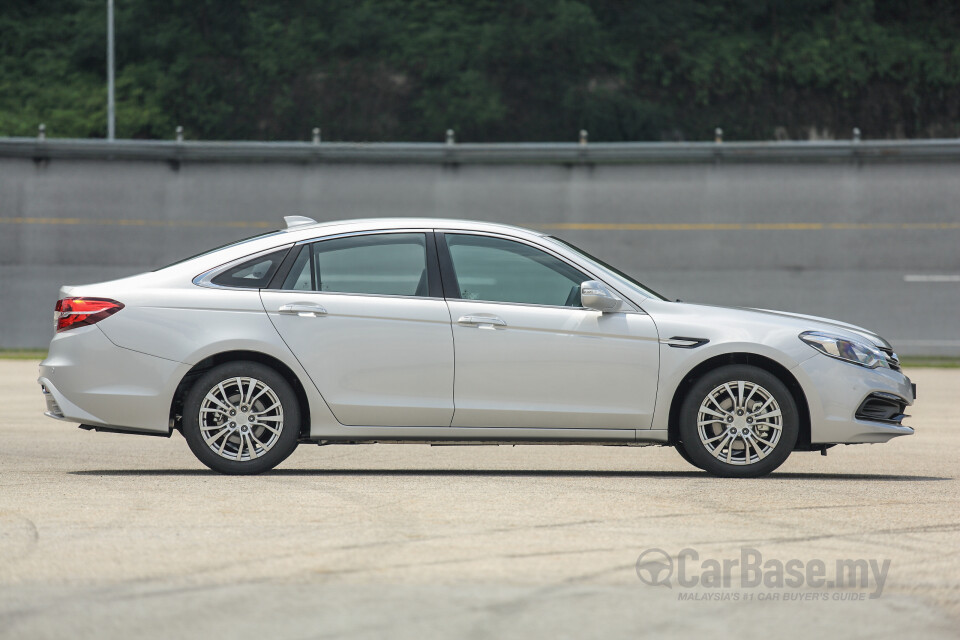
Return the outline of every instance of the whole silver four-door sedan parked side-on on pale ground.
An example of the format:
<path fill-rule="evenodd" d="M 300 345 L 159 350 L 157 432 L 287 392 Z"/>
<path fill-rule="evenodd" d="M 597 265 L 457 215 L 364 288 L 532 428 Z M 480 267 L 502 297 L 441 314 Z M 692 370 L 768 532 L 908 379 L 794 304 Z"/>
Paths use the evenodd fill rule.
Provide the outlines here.
<path fill-rule="evenodd" d="M 719 476 L 886 442 L 915 387 L 865 329 L 667 300 L 549 235 L 437 219 L 287 228 L 63 287 L 47 415 L 179 431 L 222 473 L 298 443 L 668 445 Z"/>

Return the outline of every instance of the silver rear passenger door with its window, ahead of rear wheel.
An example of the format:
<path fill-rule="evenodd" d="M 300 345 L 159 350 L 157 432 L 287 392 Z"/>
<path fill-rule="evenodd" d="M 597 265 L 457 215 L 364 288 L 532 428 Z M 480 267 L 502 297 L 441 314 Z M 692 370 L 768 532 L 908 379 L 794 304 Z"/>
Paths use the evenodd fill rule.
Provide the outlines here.
<path fill-rule="evenodd" d="M 453 337 L 432 233 L 376 232 L 294 247 L 264 308 L 337 420 L 449 426 Z"/>

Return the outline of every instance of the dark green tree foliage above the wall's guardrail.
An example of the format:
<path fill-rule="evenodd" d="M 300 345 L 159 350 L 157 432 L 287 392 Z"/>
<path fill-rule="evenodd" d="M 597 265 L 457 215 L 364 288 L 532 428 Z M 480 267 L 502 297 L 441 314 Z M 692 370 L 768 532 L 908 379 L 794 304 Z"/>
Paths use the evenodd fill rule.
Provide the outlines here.
<path fill-rule="evenodd" d="M 960 135 L 956 0 L 115 0 L 117 133 Z M 101 137 L 105 0 L 0 0 L 0 135 Z"/>

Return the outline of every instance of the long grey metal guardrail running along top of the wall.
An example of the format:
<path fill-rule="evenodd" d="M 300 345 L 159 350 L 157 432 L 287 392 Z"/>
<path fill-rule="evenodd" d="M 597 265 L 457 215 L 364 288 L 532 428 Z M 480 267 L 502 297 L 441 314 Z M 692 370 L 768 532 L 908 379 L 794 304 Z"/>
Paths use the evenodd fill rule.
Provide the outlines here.
<path fill-rule="evenodd" d="M 618 143 L 209 142 L 0 138 L 0 158 L 181 162 L 657 164 L 956 162 L 960 140 Z"/>

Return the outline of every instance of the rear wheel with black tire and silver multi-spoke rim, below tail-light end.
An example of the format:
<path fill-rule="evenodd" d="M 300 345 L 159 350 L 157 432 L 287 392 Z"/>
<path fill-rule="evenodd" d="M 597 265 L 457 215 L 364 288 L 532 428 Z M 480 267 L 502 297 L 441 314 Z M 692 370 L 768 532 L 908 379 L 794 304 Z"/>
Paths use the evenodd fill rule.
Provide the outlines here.
<path fill-rule="evenodd" d="M 224 393 L 226 405 L 219 403 Z M 243 403 L 245 397 L 254 398 L 251 406 Z M 228 362 L 206 372 L 190 388 L 183 411 L 183 436 L 190 450 L 200 462 L 219 473 L 263 473 L 286 460 L 297 448 L 297 395 L 282 375 L 258 362 Z M 208 444 L 208 439 L 213 444 Z"/>

